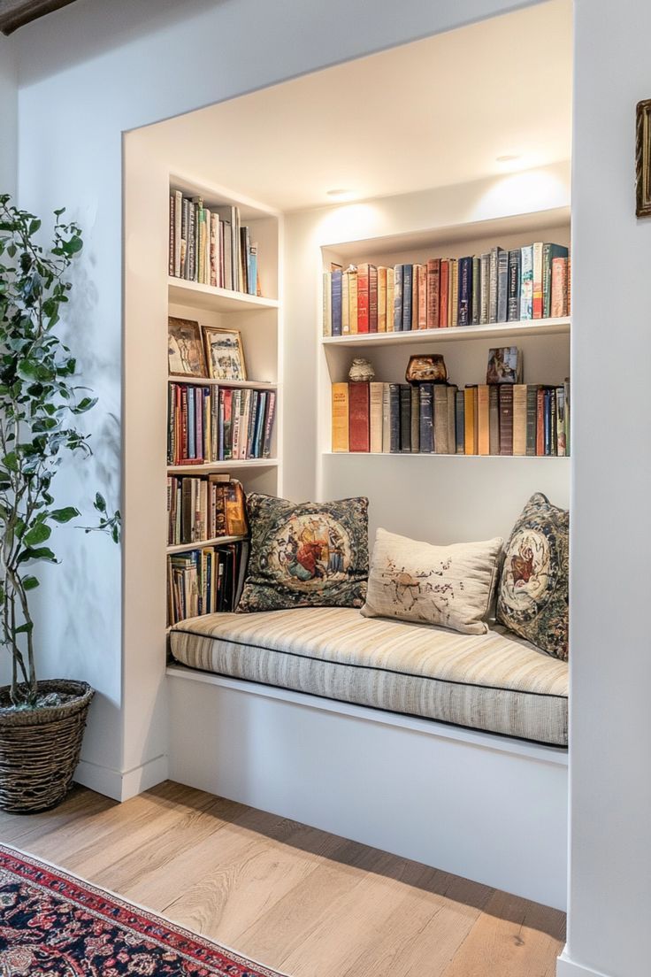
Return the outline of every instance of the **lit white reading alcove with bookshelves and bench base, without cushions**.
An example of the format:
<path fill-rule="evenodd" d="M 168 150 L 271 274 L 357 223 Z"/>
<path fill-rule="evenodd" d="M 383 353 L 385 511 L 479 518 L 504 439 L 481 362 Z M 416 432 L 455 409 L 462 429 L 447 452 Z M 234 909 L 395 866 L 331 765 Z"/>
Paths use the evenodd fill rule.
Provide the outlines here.
<path fill-rule="evenodd" d="M 564 709 L 557 738 L 513 733 L 338 698 L 327 683 L 210 670 L 208 658 L 189 667 L 180 634 L 185 618 L 231 610 L 247 530 L 235 495 L 223 522 L 213 510 L 235 480 L 246 493 L 295 502 L 366 496 L 371 544 L 379 528 L 437 546 L 508 540 L 535 493 L 569 506 L 569 10 L 554 3 L 473 24 L 124 141 L 124 749 L 133 792 L 169 774 L 558 908 L 566 691 L 553 693 Z M 509 59 L 487 100 L 500 49 Z M 379 276 L 364 285 L 367 298 L 377 289 L 367 307 L 374 325 L 358 318 L 359 298 L 350 315 L 350 270 L 356 289 L 363 269 Z M 486 370 L 490 351 L 510 348 L 522 373 L 508 437 L 491 413 Z M 410 357 L 428 354 L 443 356 L 449 379 L 436 393 L 447 391 L 445 415 L 434 404 L 430 444 L 418 423 L 424 395 L 405 393 Z M 337 441 L 333 417 L 353 358 L 372 364 L 376 397 L 368 445 L 356 449 Z M 394 445 L 391 396 L 402 424 Z M 506 417 L 502 396 L 495 388 Z M 476 443 L 475 411 L 485 421 Z M 317 630 L 327 636 L 333 622 L 326 615 Z M 177 660 L 167 658 L 169 625 Z M 276 639 L 258 635 L 256 647 L 264 640 Z"/>

